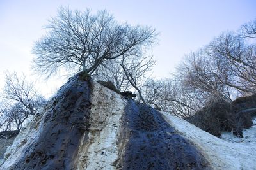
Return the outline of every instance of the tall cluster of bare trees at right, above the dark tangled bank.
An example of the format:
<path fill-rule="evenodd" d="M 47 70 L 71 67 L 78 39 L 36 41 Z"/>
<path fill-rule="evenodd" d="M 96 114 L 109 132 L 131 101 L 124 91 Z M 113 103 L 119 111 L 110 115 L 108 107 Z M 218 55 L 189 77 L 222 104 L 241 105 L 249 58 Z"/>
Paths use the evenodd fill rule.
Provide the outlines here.
<path fill-rule="evenodd" d="M 256 22 L 244 24 L 239 32 L 224 32 L 209 45 L 187 55 L 179 65 L 168 90 L 159 90 L 164 108 L 179 117 L 193 115 L 202 107 L 239 93 L 256 92 Z M 251 41 L 252 40 L 252 41 Z"/>

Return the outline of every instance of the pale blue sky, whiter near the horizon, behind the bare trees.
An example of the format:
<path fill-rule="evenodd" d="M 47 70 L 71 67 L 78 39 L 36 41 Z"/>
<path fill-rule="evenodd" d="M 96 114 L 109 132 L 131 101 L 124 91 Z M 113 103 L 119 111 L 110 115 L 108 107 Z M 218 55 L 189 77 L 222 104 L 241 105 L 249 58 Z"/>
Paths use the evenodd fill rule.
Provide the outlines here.
<path fill-rule="evenodd" d="M 63 76 L 46 81 L 31 73 L 31 48 L 60 6 L 93 13 L 106 9 L 118 22 L 155 27 L 160 34 L 152 49 L 154 78 L 170 77 L 186 53 L 256 18 L 254 0 L 0 0 L 0 88 L 4 71 L 26 74 L 45 96 L 65 83 Z"/>

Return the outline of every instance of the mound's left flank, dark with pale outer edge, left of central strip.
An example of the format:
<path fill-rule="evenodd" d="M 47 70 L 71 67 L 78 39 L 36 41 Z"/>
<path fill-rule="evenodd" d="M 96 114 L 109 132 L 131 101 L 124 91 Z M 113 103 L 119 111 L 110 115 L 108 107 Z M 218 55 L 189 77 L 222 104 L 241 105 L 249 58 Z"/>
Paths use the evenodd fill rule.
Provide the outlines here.
<path fill-rule="evenodd" d="M 1 168 L 74 169 L 80 141 L 88 136 L 90 107 L 90 81 L 77 75 L 22 129 Z"/>

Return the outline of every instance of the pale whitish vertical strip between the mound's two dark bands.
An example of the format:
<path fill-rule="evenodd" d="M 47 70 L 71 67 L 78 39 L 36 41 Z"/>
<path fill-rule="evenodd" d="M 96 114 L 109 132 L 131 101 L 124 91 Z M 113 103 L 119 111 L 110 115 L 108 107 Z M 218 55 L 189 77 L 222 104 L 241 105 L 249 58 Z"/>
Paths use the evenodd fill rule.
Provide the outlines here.
<path fill-rule="evenodd" d="M 87 148 L 81 146 L 84 149 L 78 169 L 116 169 L 118 133 L 125 101 L 119 94 L 93 82 L 91 102 L 89 145 Z"/>

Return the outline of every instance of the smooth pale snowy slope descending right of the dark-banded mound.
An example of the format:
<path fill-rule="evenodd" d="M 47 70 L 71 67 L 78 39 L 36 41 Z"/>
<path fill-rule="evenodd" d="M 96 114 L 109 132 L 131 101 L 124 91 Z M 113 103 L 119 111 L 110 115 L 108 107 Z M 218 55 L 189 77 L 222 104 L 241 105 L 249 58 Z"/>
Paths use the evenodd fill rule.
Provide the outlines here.
<path fill-rule="evenodd" d="M 213 169 L 256 169 L 256 129 L 254 127 L 244 131 L 244 136 L 254 132 L 254 136 L 247 137 L 250 139 L 248 142 L 234 143 L 212 136 L 170 113 L 161 113 L 166 122 L 198 147 Z"/>

